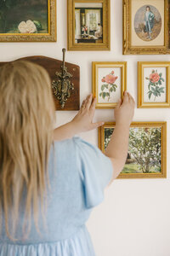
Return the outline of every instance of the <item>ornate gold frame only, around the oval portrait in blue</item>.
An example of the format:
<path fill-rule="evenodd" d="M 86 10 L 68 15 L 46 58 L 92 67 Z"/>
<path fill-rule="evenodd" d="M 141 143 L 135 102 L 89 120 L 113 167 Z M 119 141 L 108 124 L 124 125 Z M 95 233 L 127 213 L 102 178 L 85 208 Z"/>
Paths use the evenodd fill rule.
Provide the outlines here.
<path fill-rule="evenodd" d="M 163 0 L 164 6 L 164 45 L 163 46 L 132 46 L 131 45 L 131 1 L 122 0 L 123 12 L 123 55 L 165 55 L 168 49 L 168 0 Z"/>

